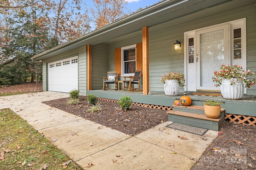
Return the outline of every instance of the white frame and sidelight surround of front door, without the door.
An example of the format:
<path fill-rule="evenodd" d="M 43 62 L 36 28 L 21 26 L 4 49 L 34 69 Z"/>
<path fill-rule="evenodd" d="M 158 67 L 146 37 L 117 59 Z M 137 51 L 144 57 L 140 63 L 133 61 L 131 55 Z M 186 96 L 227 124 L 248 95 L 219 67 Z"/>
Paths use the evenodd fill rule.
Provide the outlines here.
<path fill-rule="evenodd" d="M 212 25 L 209 27 L 204 27 L 204 28 L 200 28 L 200 29 L 196 29 L 196 30 L 192 30 L 192 31 L 187 31 L 184 32 L 184 73 L 185 73 L 185 78 L 186 80 L 188 80 L 188 66 L 190 64 L 194 64 L 194 63 L 188 63 L 188 39 L 189 38 L 194 38 L 194 50 L 196 49 L 196 31 L 200 31 L 203 29 L 208 29 L 208 28 L 214 28 L 214 27 L 218 27 L 220 25 L 224 25 L 224 24 L 230 24 L 230 28 L 229 28 L 229 64 L 233 65 L 233 64 L 241 64 L 243 66 L 244 69 L 247 68 L 246 65 L 246 18 L 242 18 L 239 20 L 233 20 L 233 21 L 229 21 L 229 22 L 225 22 L 225 23 L 220 23 L 217 25 Z M 234 51 L 233 51 L 233 46 L 234 46 L 234 29 L 237 28 L 241 28 L 241 53 L 242 53 L 242 59 L 234 59 Z M 194 51 L 194 55 L 196 54 L 196 51 Z M 196 56 L 195 56 L 196 58 Z M 195 61 L 194 58 L 194 62 Z M 196 91 L 196 86 L 193 84 L 187 84 L 188 81 L 186 81 L 186 86 L 184 87 L 185 91 Z M 188 86 L 190 85 L 190 89 L 188 89 Z M 192 88 L 194 90 L 192 90 Z M 246 88 L 244 89 L 244 94 L 246 94 Z"/>

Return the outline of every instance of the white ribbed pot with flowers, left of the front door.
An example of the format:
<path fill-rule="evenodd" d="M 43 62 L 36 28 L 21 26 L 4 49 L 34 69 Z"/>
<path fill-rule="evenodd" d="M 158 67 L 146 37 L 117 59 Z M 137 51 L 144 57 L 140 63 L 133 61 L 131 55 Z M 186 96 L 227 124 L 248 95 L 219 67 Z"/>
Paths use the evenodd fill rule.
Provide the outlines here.
<path fill-rule="evenodd" d="M 166 96 L 178 96 L 179 87 L 185 84 L 184 74 L 181 72 L 169 72 L 162 75 L 160 81 L 164 83 L 164 93 Z"/>

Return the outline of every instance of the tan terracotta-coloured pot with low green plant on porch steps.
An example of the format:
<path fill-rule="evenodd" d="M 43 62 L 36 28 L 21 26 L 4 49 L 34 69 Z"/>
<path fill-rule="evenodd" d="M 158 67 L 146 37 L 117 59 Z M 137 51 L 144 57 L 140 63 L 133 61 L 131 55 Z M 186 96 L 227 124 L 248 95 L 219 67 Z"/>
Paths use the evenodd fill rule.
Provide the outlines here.
<path fill-rule="evenodd" d="M 222 102 L 216 100 L 206 100 L 204 104 L 204 113 L 207 117 L 216 119 L 220 116 Z"/>

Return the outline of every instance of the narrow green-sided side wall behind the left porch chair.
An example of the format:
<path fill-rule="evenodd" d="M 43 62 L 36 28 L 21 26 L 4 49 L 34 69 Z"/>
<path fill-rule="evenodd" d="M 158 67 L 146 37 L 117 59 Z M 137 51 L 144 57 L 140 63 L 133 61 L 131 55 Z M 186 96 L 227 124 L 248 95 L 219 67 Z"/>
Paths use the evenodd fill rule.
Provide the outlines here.
<path fill-rule="evenodd" d="M 100 43 L 92 46 L 92 89 L 102 89 L 103 78 L 107 76 L 108 44 Z M 110 85 L 111 86 L 111 85 Z"/>

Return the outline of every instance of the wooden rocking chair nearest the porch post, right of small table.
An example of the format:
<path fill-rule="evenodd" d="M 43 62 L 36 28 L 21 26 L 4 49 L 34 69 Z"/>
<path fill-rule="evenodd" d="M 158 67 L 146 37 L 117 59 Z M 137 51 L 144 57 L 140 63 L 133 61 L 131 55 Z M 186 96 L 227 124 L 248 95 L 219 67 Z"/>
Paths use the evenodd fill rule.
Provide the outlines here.
<path fill-rule="evenodd" d="M 142 90 L 140 89 L 140 75 L 141 75 L 141 70 L 135 70 L 134 76 L 125 76 L 124 77 L 124 87 L 123 90 L 126 90 L 128 88 L 129 92 L 141 92 Z M 130 80 L 126 80 L 126 78 L 130 78 Z M 126 87 L 125 84 L 129 83 L 129 86 Z M 134 88 L 134 84 L 138 84 L 138 88 Z"/>

